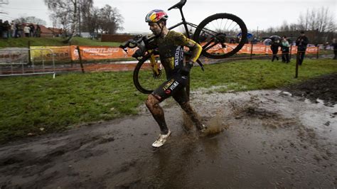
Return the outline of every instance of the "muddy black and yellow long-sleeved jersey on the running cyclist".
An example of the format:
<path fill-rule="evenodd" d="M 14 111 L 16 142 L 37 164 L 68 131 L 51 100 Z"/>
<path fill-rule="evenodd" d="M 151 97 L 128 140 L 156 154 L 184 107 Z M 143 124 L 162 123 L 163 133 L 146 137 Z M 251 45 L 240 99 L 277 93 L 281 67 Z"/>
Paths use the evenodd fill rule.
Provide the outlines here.
<path fill-rule="evenodd" d="M 186 38 L 182 33 L 169 31 L 164 38 L 155 38 L 151 45 L 158 47 L 161 65 L 164 66 L 166 77 L 171 77 L 183 68 L 183 47 L 190 48 L 190 60 L 196 62 L 201 53 L 201 46 L 195 41 Z"/>

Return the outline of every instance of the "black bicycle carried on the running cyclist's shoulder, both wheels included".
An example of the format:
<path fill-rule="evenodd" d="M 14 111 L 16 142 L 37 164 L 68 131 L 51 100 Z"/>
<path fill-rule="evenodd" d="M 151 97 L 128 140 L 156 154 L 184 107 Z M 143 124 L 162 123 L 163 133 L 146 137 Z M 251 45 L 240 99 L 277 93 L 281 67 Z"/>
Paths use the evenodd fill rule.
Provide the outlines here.
<path fill-rule="evenodd" d="M 237 53 L 245 45 L 247 27 L 241 18 L 230 13 L 215 13 L 205 18 L 199 25 L 189 23 L 183 16 L 183 6 L 186 4 L 186 1 L 181 0 L 169 8 L 169 10 L 179 9 L 182 18 L 181 23 L 169 27 L 169 30 L 183 25 L 186 36 L 191 38 L 188 26 L 195 28 L 192 39 L 203 47 L 201 53 L 203 56 L 214 59 L 228 58 Z M 139 48 L 132 55 L 132 57 L 139 60 L 136 68 L 134 68 L 133 81 L 137 90 L 145 94 L 150 94 L 158 86 L 158 83 L 166 80 L 165 72 L 161 72 L 161 65 L 159 65 L 155 58 L 158 55 L 158 51 L 156 49 L 144 50 L 146 44 L 153 39 L 154 36 L 149 38 L 146 36 L 136 36 L 124 45 L 119 46 L 125 51 L 127 51 L 127 48 Z M 232 41 L 236 41 L 237 45 L 229 44 Z M 187 57 L 190 55 L 188 52 L 184 53 Z M 197 60 L 197 62 L 203 69 L 203 64 L 200 63 L 200 60 Z"/>

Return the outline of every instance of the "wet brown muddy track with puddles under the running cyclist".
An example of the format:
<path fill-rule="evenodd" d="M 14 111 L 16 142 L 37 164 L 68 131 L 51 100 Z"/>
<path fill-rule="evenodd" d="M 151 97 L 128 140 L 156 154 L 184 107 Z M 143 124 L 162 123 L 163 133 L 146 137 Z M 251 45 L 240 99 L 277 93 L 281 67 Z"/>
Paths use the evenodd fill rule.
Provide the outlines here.
<path fill-rule="evenodd" d="M 223 130 L 203 137 L 186 131 L 189 121 L 168 100 L 162 105 L 172 135 L 157 149 L 151 144 L 159 129 L 144 106 L 139 116 L 4 144 L 0 186 L 336 188 L 336 102 L 301 92 L 192 92 L 203 120 Z"/>

